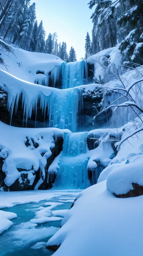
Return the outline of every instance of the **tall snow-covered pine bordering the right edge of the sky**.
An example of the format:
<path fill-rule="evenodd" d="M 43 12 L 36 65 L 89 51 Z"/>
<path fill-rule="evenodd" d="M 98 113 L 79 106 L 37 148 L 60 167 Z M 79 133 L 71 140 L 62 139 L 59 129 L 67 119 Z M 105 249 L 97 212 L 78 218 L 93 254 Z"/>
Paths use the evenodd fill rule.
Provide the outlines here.
<path fill-rule="evenodd" d="M 116 46 L 116 21 L 114 19 L 114 7 L 111 0 L 91 0 L 89 8 L 92 9 L 96 5 L 92 14 L 92 22 L 94 23 L 92 30 L 92 54 L 99 50 Z"/>

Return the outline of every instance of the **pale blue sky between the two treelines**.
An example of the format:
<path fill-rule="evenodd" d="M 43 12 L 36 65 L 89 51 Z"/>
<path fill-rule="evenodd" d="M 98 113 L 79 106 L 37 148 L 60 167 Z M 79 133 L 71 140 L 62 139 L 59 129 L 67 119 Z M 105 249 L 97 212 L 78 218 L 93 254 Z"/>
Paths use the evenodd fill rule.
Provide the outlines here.
<path fill-rule="evenodd" d="M 94 12 L 88 8 L 90 0 L 35 0 L 38 22 L 43 20 L 46 36 L 49 32 L 57 32 L 58 43 L 67 43 L 69 52 L 75 48 L 77 59 L 84 58 L 84 44 L 87 31 L 91 35 Z"/>

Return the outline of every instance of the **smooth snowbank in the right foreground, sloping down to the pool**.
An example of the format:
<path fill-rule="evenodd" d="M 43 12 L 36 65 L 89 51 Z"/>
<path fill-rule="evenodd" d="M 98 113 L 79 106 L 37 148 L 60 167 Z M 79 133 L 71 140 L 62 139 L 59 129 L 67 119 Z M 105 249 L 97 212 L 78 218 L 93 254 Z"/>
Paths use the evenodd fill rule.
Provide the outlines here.
<path fill-rule="evenodd" d="M 47 244 L 61 244 L 55 256 L 142 256 L 142 200 L 116 198 L 106 190 L 106 181 L 91 186 Z"/>

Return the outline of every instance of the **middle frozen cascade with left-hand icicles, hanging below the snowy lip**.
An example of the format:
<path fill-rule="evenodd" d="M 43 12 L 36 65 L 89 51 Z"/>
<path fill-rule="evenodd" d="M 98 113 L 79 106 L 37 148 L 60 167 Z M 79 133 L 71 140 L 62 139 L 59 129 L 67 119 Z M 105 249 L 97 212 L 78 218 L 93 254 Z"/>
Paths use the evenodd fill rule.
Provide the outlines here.
<path fill-rule="evenodd" d="M 46 120 L 47 114 L 49 117 L 48 121 L 44 122 L 45 127 L 69 129 L 72 132 L 76 132 L 79 125 L 80 129 L 80 113 L 83 107 L 82 90 L 78 88 L 64 91 L 53 90 L 48 96 L 40 92 L 40 94 L 37 94 L 36 97 L 31 99 L 29 99 L 27 93 L 24 91 L 22 93 L 17 92 L 15 95 L 8 94 L 8 110 L 11 114 L 11 120 L 13 112 L 17 113 L 20 99 L 24 111 L 23 123 L 27 123 L 27 120 L 31 118 L 34 111 L 35 127 L 37 127 L 37 106 L 40 105 L 44 120 Z"/>

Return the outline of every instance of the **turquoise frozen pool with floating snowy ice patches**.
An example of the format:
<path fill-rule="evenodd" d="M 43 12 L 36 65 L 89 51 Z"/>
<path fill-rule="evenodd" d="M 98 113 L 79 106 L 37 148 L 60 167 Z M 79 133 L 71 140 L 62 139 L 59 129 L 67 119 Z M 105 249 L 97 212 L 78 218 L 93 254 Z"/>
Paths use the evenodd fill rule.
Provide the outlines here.
<path fill-rule="evenodd" d="M 12 219 L 14 224 L 0 235 L 0 256 L 52 255 L 54 252 L 46 249 L 46 243 L 59 230 L 62 217 L 66 212 L 64 210 L 70 209 L 77 195 L 78 193 L 60 193 L 51 199 L 41 200 L 39 203 L 28 203 L 2 209 L 16 213 L 17 218 Z M 45 209 L 48 209 L 48 213 L 45 213 Z M 40 217 L 49 214 L 52 217 L 51 221 L 50 217 L 46 217 L 48 222 L 35 218 L 36 212 L 43 214 L 42 216 L 37 215 Z M 57 217 L 59 220 L 53 220 Z M 33 224 L 31 223 L 33 219 L 36 222 L 40 220 L 42 223 Z"/>

